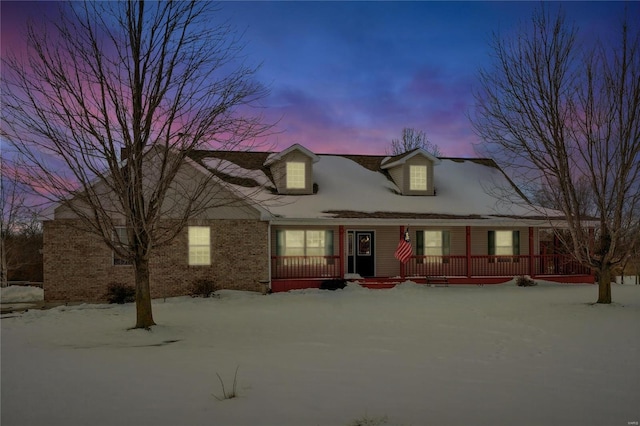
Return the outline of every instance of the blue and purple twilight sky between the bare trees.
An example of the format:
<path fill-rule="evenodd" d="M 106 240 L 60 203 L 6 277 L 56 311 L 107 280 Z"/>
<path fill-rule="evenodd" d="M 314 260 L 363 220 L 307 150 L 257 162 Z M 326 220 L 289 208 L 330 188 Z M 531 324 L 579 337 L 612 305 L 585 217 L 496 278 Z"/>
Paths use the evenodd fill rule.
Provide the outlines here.
<path fill-rule="evenodd" d="M 560 3 L 551 3 L 556 10 Z M 492 31 L 528 23 L 538 2 L 223 2 L 262 63 L 277 149 L 385 154 L 403 127 L 426 132 L 445 156 L 474 156 L 468 120 Z M 617 30 L 625 3 L 566 2 L 585 37 Z M 633 16 L 640 3 L 632 2 Z M 56 16 L 53 2 L 0 3 L 2 53 L 22 46 L 26 18 Z"/>

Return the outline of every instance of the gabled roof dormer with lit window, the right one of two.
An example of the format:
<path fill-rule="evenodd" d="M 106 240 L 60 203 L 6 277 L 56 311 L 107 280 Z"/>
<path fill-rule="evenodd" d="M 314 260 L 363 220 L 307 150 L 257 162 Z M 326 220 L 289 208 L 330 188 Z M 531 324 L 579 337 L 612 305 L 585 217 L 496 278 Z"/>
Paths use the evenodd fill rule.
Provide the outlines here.
<path fill-rule="evenodd" d="M 380 167 L 388 170 L 402 195 L 435 195 L 434 166 L 440 159 L 417 148 L 394 157 L 385 158 Z"/>

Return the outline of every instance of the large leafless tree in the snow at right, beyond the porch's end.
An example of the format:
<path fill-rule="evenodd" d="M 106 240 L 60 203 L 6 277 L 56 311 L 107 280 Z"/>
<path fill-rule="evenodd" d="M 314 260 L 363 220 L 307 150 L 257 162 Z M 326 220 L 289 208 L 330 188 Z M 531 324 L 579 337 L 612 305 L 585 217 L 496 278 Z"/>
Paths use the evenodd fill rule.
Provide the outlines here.
<path fill-rule="evenodd" d="M 475 94 L 480 148 L 519 182 L 546 188 L 552 207 L 563 213 L 565 245 L 597 273 L 598 303 L 611 302 L 612 267 L 640 238 L 634 232 L 640 36 L 629 26 L 640 22 L 635 18 L 622 21 L 615 44 L 587 49 L 562 11 L 553 18 L 543 6 L 531 27 L 494 37 L 494 66 L 480 73 Z"/>

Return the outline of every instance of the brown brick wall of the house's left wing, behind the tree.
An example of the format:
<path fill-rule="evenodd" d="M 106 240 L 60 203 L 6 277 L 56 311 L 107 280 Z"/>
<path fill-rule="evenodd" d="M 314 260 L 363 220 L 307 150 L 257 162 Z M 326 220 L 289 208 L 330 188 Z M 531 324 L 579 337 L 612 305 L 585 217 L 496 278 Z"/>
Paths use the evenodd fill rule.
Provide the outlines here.
<path fill-rule="evenodd" d="M 44 290 L 47 301 L 106 300 L 110 283 L 134 285 L 133 266 L 113 265 L 111 250 L 72 220 L 44 222 Z M 189 294 L 197 279 L 219 287 L 260 291 L 269 277 L 268 223 L 258 220 L 199 220 L 211 227 L 211 266 L 188 265 L 187 229 L 150 261 L 151 297 Z"/>

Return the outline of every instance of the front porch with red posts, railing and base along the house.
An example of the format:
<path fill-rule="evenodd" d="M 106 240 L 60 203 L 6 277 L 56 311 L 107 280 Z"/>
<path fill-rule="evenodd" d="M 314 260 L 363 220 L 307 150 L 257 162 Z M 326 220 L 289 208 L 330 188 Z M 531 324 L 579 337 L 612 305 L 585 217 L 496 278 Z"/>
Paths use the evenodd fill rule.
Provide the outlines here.
<path fill-rule="evenodd" d="M 428 282 L 428 277 L 446 277 L 448 284 L 452 285 L 498 284 L 519 275 L 563 283 L 593 282 L 593 275 L 589 268 L 580 265 L 570 255 L 557 253 L 553 248 L 549 249 L 548 244 L 540 241 L 540 233 L 533 227 L 527 229 L 526 240 L 519 237 L 524 241 L 518 241 L 520 248 L 516 253 L 525 252 L 526 254 L 473 253 L 473 247 L 478 250 L 478 244 L 474 246 L 472 238 L 479 232 L 472 230 L 471 226 L 466 226 L 453 231 L 454 235 L 464 236 L 464 245 L 460 241 L 462 238 L 457 240 L 452 238 L 452 247 L 446 250 L 451 254 L 424 254 L 423 250 L 416 250 L 414 242 L 413 255 L 406 263 L 394 259 L 393 254 L 398 240 L 385 238 L 385 231 L 382 228 L 372 228 L 366 232 L 352 232 L 343 225 L 337 228 L 338 244 L 332 254 L 287 256 L 276 253 L 272 255 L 272 291 L 319 288 L 324 281 L 343 278 L 360 282 L 369 288 L 390 288 L 406 280 L 424 284 Z M 394 235 L 398 235 L 396 234 L 398 231 L 399 235 L 404 234 L 404 226 L 394 229 L 396 230 Z M 369 245 L 360 247 L 359 234 L 366 234 L 371 240 Z M 374 239 L 377 240 L 377 246 L 373 244 Z M 485 242 L 483 241 L 482 244 Z M 371 257 L 372 273 L 358 274 L 358 271 L 354 270 L 359 250 L 368 253 Z M 460 252 L 464 254 L 459 254 Z M 385 267 L 387 264 L 392 264 L 393 268 Z M 381 274 L 383 270 L 386 273 Z"/>

